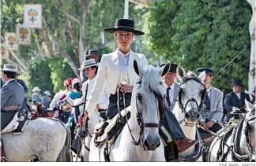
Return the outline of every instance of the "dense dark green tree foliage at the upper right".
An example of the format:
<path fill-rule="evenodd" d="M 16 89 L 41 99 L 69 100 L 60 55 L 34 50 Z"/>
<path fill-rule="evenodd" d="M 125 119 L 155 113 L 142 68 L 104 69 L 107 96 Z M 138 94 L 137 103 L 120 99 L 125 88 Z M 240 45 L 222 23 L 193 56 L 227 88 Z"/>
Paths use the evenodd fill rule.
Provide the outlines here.
<path fill-rule="evenodd" d="M 149 7 L 150 48 L 186 71 L 218 72 L 243 46 L 250 47 L 250 5 L 245 1 L 163 0 Z M 250 49 L 224 68 L 213 85 L 229 89 L 233 78 L 247 85 Z"/>

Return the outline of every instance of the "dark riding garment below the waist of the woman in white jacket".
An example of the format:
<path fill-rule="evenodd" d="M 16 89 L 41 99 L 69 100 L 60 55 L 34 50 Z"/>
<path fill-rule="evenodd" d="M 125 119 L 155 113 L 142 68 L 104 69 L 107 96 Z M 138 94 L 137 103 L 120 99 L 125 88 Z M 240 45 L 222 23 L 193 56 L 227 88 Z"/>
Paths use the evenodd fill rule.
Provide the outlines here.
<path fill-rule="evenodd" d="M 111 94 L 109 96 L 109 105 L 107 108 L 107 119 L 111 120 L 117 113 L 125 109 L 125 106 L 130 106 L 131 93 L 125 93 L 125 103 L 123 102 L 123 93 L 119 91 L 119 99 L 117 92 L 115 94 Z M 119 108 L 117 105 L 117 101 L 119 101 Z"/>

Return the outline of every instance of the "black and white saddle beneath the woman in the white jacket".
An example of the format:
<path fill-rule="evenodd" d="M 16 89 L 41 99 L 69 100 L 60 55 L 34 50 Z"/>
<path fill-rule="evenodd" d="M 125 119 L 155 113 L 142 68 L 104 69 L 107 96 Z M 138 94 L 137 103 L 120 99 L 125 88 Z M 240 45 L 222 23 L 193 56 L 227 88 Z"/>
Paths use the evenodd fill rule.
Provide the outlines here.
<path fill-rule="evenodd" d="M 94 128 L 94 134 L 96 135 L 94 143 L 96 146 L 100 146 L 106 141 L 109 144 L 114 144 L 129 119 L 130 106 L 126 110 L 123 109 L 121 115 L 118 113 L 111 120 L 96 124 Z"/>

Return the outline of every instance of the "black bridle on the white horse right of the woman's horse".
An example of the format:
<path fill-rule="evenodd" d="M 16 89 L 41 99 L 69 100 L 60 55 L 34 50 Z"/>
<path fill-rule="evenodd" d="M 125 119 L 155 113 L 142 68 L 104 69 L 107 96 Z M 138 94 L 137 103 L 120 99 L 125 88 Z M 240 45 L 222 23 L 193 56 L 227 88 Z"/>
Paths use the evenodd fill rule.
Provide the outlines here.
<path fill-rule="evenodd" d="M 203 87 L 204 90 L 201 91 L 201 102 L 200 105 L 198 105 L 198 102 L 194 98 L 190 98 L 188 101 L 186 101 L 185 107 L 183 107 L 183 102 L 182 102 L 182 94 L 183 94 L 183 89 L 181 88 L 182 85 L 186 82 L 188 82 L 190 79 L 193 79 L 197 83 L 200 83 Z M 185 113 L 186 105 L 190 101 L 194 101 L 198 107 L 198 110 L 200 111 L 202 108 L 202 104 L 205 102 L 205 94 L 206 94 L 206 87 L 203 83 L 201 83 L 201 79 L 199 79 L 197 76 L 185 76 L 182 79 L 182 83 L 179 84 L 179 90 L 178 90 L 178 100 L 176 100 L 179 104 L 179 109 L 181 109 L 182 113 Z"/>

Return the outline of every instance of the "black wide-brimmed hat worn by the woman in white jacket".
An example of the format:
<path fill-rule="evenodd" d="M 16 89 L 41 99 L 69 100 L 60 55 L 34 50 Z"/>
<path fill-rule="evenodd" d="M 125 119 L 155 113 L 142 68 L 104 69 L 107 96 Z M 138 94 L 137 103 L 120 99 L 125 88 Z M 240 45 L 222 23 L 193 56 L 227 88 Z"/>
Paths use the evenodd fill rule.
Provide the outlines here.
<path fill-rule="evenodd" d="M 115 28 L 105 28 L 107 33 L 114 33 L 115 31 L 131 31 L 134 35 L 144 35 L 143 31 L 138 31 L 135 28 L 134 20 L 119 18 L 115 20 Z"/>

